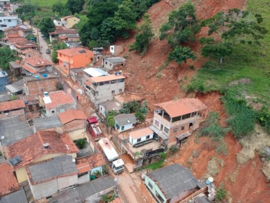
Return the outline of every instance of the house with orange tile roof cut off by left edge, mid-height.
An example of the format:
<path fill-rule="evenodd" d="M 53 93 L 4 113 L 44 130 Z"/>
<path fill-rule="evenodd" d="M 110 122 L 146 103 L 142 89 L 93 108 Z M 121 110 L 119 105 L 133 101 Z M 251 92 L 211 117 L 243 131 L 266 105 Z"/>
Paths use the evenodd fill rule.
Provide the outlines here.
<path fill-rule="evenodd" d="M 0 103 L 0 119 L 19 117 L 20 120 L 25 120 L 24 100 L 4 101 Z"/>

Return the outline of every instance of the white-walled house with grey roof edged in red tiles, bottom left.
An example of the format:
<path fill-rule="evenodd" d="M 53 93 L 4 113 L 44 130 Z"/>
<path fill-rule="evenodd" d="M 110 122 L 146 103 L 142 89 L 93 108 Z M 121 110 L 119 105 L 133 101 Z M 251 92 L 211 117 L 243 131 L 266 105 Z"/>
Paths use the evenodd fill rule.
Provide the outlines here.
<path fill-rule="evenodd" d="M 26 172 L 35 200 L 78 184 L 75 159 L 68 155 L 31 163 L 26 167 Z"/>

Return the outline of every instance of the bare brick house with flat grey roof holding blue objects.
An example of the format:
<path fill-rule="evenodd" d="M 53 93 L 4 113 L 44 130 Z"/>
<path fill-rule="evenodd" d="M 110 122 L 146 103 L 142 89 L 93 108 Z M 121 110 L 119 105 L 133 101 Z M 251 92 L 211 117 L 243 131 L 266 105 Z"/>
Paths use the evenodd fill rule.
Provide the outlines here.
<path fill-rule="evenodd" d="M 56 91 L 59 76 L 54 73 L 32 75 L 23 78 L 26 94 L 41 94 L 43 92 Z"/>

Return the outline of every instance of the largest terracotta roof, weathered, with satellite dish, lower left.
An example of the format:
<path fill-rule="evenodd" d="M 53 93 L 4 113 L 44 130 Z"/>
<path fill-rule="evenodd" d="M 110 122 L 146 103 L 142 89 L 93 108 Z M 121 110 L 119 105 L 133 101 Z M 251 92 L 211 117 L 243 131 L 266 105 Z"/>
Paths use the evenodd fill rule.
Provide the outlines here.
<path fill-rule="evenodd" d="M 48 148 L 44 148 L 44 144 L 49 143 Z M 13 169 L 23 167 L 32 163 L 46 154 L 54 153 L 78 153 L 79 150 L 70 139 L 68 134 L 59 134 L 54 130 L 37 131 L 32 136 L 20 140 L 8 147 L 4 147 L 4 154 L 7 159 L 20 156 L 22 161 L 13 166 Z"/>

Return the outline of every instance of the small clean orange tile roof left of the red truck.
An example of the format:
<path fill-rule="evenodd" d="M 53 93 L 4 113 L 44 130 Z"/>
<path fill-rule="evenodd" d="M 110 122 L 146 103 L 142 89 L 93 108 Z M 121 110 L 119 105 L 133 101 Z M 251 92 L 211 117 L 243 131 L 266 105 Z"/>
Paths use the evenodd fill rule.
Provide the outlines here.
<path fill-rule="evenodd" d="M 64 111 L 62 113 L 59 113 L 58 116 L 59 116 L 62 124 L 66 124 L 66 123 L 73 121 L 73 120 L 80 120 L 80 119 L 86 120 L 87 119 L 87 117 L 83 111 L 75 110 L 75 109 L 70 109 L 70 110 Z"/>

